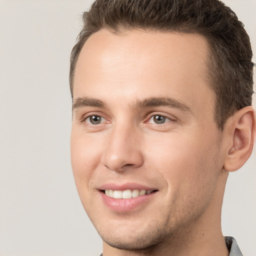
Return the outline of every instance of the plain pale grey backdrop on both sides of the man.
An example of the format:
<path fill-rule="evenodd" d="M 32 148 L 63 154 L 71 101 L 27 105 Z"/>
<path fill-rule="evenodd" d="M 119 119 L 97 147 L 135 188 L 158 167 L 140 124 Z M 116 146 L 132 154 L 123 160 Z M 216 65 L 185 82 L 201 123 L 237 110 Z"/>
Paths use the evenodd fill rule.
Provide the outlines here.
<path fill-rule="evenodd" d="M 245 24 L 256 52 L 256 1 L 224 2 Z M 0 0 L 1 256 L 101 252 L 69 157 L 69 54 L 90 3 Z M 223 234 L 234 236 L 247 256 L 256 255 L 255 170 L 254 150 L 230 173 L 222 210 Z"/>

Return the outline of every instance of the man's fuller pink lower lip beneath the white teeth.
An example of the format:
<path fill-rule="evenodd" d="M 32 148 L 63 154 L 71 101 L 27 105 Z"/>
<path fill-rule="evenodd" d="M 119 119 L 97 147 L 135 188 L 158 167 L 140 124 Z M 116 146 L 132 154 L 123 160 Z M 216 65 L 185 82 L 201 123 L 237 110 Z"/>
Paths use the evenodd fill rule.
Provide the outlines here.
<path fill-rule="evenodd" d="M 140 205 L 144 205 L 152 198 L 152 196 L 154 196 L 155 193 L 156 191 L 150 194 L 139 195 L 134 198 L 116 199 L 113 197 L 106 196 L 103 192 L 100 192 L 101 198 L 103 202 L 106 204 L 106 206 L 111 210 L 118 212 L 130 211 Z"/>

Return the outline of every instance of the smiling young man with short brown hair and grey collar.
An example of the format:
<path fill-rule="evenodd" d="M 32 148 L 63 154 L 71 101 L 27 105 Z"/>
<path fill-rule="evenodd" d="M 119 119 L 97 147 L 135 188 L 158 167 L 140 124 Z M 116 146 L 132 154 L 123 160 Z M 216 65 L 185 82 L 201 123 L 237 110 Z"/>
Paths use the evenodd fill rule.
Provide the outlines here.
<path fill-rule="evenodd" d="M 96 0 L 71 53 L 71 161 L 103 255 L 242 255 L 228 172 L 251 154 L 251 47 L 218 0 Z"/>

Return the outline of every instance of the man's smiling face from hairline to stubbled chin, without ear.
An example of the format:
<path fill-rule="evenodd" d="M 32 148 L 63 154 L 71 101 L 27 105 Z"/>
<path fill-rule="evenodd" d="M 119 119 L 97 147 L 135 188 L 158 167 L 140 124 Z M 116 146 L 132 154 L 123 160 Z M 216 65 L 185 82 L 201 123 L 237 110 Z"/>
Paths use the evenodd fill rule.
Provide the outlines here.
<path fill-rule="evenodd" d="M 113 247 L 147 247 L 207 218 L 223 157 L 206 55 L 198 34 L 138 30 L 100 30 L 80 52 L 72 168 Z"/>

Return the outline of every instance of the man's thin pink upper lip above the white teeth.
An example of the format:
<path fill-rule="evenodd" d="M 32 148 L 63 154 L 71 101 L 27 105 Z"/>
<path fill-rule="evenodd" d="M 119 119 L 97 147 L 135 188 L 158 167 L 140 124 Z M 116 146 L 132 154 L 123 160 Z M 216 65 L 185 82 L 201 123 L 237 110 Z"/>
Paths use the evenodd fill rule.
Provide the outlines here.
<path fill-rule="evenodd" d="M 122 184 L 116 184 L 116 183 L 105 183 L 98 187 L 99 190 L 106 190 L 106 189 L 112 189 L 112 190 L 127 190 L 127 189 L 138 189 L 138 190 L 157 190 L 156 188 L 148 185 L 143 185 L 139 183 L 122 183 Z"/>

